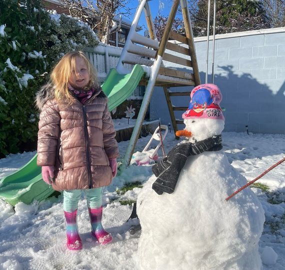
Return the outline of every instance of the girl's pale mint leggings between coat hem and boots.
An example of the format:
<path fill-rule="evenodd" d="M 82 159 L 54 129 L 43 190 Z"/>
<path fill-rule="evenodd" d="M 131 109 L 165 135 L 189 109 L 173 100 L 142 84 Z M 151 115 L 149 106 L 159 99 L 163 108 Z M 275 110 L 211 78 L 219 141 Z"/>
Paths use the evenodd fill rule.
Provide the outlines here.
<path fill-rule="evenodd" d="M 91 189 L 72 189 L 63 191 L 63 210 L 73 212 L 78 208 L 81 194 L 85 193 L 88 208 L 99 208 L 102 206 L 103 187 Z"/>

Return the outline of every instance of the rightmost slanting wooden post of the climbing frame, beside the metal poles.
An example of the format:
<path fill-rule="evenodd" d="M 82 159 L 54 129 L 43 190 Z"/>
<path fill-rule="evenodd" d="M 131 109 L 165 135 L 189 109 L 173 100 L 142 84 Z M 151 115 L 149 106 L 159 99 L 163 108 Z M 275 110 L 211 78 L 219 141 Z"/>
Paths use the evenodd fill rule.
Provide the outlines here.
<path fill-rule="evenodd" d="M 200 81 L 198 62 L 197 62 L 195 45 L 194 45 L 194 38 L 193 38 L 193 31 L 192 31 L 192 27 L 191 27 L 191 19 L 190 19 L 190 15 L 189 15 L 188 6 L 187 6 L 187 1 L 186 0 L 180 0 L 180 4 L 181 4 L 181 10 L 182 10 L 182 15 L 183 15 L 183 20 L 184 20 L 187 42 L 188 42 L 188 46 L 189 46 L 189 52 L 191 55 L 192 68 L 193 68 L 193 73 L 194 73 L 194 81 L 195 81 L 196 85 L 199 85 L 199 84 L 201 84 L 201 81 Z"/>

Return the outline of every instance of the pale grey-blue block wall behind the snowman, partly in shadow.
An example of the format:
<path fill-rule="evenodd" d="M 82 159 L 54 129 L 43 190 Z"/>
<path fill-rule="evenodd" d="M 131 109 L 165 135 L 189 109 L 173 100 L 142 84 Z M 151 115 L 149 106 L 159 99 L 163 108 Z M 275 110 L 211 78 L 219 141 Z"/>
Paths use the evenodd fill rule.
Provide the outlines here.
<path fill-rule="evenodd" d="M 201 83 L 205 82 L 206 37 L 195 38 Z M 225 131 L 285 134 L 285 27 L 216 35 L 214 83 L 222 92 Z M 212 41 L 209 42 L 208 82 L 211 82 Z M 190 87 L 171 88 L 191 90 Z M 189 97 L 171 97 L 187 106 Z M 181 119 L 181 112 L 175 111 Z M 155 87 L 150 118 L 170 121 L 163 89 Z M 179 125 L 183 128 L 183 125 Z"/>

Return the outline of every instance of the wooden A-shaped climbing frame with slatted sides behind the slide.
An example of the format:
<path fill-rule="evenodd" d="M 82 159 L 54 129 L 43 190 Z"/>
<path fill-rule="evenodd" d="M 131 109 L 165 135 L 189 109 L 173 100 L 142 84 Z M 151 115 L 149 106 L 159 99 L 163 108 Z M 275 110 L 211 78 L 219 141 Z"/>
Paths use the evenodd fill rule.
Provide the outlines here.
<path fill-rule="evenodd" d="M 171 27 L 172 27 L 172 24 L 173 24 L 179 3 L 181 6 L 181 11 L 182 11 L 183 21 L 184 21 L 184 26 L 185 26 L 185 34 L 186 34 L 185 37 L 181 36 L 179 34 L 173 33 L 171 31 Z M 146 18 L 146 22 L 147 22 L 147 26 L 148 26 L 148 31 L 149 31 L 149 36 L 150 36 L 150 38 L 148 38 L 148 40 L 146 40 L 145 37 L 139 38 L 138 34 L 135 32 L 136 25 L 137 25 L 137 22 L 138 22 L 140 15 L 141 15 L 142 10 L 144 10 L 145 18 Z M 170 112 L 170 117 L 171 117 L 171 121 L 172 121 L 174 130 L 175 129 L 177 130 L 177 125 L 176 125 L 176 119 L 175 119 L 175 116 L 173 113 L 173 106 L 172 106 L 172 108 L 170 108 L 169 100 L 167 100 L 167 97 L 169 99 L 169 95 L 167 93 L 168 92 L 167 87 L 171 87 L 172 85 L 175 85 L 175 86 L 185 86 L 185 85 L 196 86 L 196 85 L 200 84 L 200 77 L 199 77 L 199 72 L 198 72 L 198 65 L 197 65 L 197 59 L 196 59 L 196 55 L 195 55 L 195 48 L 194 48 L 194 42 L 193 42 L 193 33 L 192 33 L 190 21 L 191 20 L 190 20 L 189 10 L 188 10 L 188 6 L 187 6 L 187 1 L 186 0 L 173 0 L 173 4 L 172 4 L 171 10 L 170 10 L 164 31 L 163 31 L 161 41 L 158 44 L 157 40 L 155 40 L 155 30 L 154 30 L 154 26 L 152 23 L 151 12 L 150 12 L 147 0 L 140 0 L 140 2 L 139 2 L 139 5 L 136 9 L 136 13 L 135 13 L 135 16 L 133 19 L 133 22 L 132 22 L 130 30 L 129 30 L 129 34 L 128 34 L 126 42 L 125 42 L 125 46 L 123 47 L 122 53 L 120 55 L 120 58 L 119 58 L 119 61 L 117 64 L 117 70 L 123 71 L 123 70 L 125 70 L 123 67 L 123 63 L 131 63 L 127 59 L 127 53 L 128 52 L 135 53 L 133 47 L 136 47 L 136 46 L 134 45 L 134 43 L 142 44 L 145 47 L 150 47 L 154 50 L 156 49 L 157 51 L 155 53 L 155 59 L 153 61 L 153 64 L 151 65 L 152 68 L 151 68 L 150 76 L 149 76 L 149 79 L 148 79 L 147 84 L 146 84 L 146 89 L 145 89 L 145 93 L 144 93 L 144 96 L 142 99 L 142 103 L 140 106 L 139 113 L 137 115 L 137 120 L 136 120 L 135 126 L 133 128 L 133 132 L 132 132 L 128 147 L 126 149 L 122 165 L 120 166 L 120 169 L 124 169 L 124 167 L 126 167 L 130 163 L 131 156 L 132 156 L 132 153 L 134 152 L 134 147 L 135 147 L 136 141 L 137 141 L 139 133 L 140 133 L 140 129 L 141 129 L 141 126 L 142 126 L 142 123 L 144 120 L 144 116 L 145 116 L 148 104 L 150 102 L 151 95 L 153 93 L 154 86 L 158 85 L 157 84 L 158 81 L 162 80 L 160 83 L 160 86 L 163 87 L 163 90 L 165 93 L 165 97 L 166 97 L 166 101 L 167 101 L 167 105 L 168 105 L 168 109 Z M 174 36 L 174 38 L 173 38 L 173 36 Z M 169 43 L 168 42 L 169 37 L 171 37 L 174 40 L 179 40 L 179 41 L 182 40 L 182 43 L 188 45 L 188 48 L 186 50 L 188 51 L 187 55 L 189 55 L 191 57 L 190 61 L 189 60 L 187 61 L 181 57 L 173 57 L 172 55 L 169 56 L 168 53 L 164 54 L 166 47 L 167 47 L 167 49 L 171 50 L 171 48 L 169 48 L 170 45 L 172 48 L 176 47 L 175 49 L 177 49 L 177 47 L 179 47 L 178 45 L 168 44 Z M 177 38 L 177 39 L 175 39 L 175 38 Z M 143 41 L 141 42 L 141 40 L 143 40 Z M 181 46 L 180 49 L 181 48 L 183 48 L 183 47 Z M 173 50 L 177 51 L 175 49 L 173 49 Z M 144 51 L 146 51 L 146 49 L 144 49 Z M 149 50 L 148 50 L 148 53 L 149 53 L 149 55 L 153 55 L 153 53 L 151 53 L 151 51 L 149 51 Z M 140 55 L 143 56 L 143 54 L 140 54 Z M 144 56 L 145 56 L 145 54 L 144 54 Z M 182 75 L 181 75 L 181 77 L 179 77 L 180 74 L 183 72 L 178 71 L 175 68 L 162 67 L 162 59 L 165 59 L 166 61 L 173 61 L 173 62 L 176 62 L 179 64 L 179 61 L 177 59 L 175 60 L 173 58 L 177 58 L 177 59 L 179 58 L 180 60 L 185 62 L 186 65 L 189 64 L 188 66 L 192 67 L 192 69 L 193 69 L 193 73 L 191 73 L 192 74 L 192 83 L 187 82 L 190 80 L 186 80 L 185 77 L 183 77 Z M 164 74 L 165 74 L 164 77 L 161 76 L 162 75 L 161 71 L 160 71 L 161 69 L 164 71 Z M 160 73 L 159 73 L 159 71 L 160 71 Z M 165 77 L 167 77 L 166 72 L 171 72 L 171 75 L 174 75 L 177 78 L 177 81 L 174 80 L 174 82 L 177 82 L 180 85 L 173 83 L 173 80 L 171 81 L 168 78 L 165 78 Z M 165 79 L 163 80 L 163 78 L 165 78 Z M 185 95 L 185 94 L 183 94 L 183 95 Z"/>

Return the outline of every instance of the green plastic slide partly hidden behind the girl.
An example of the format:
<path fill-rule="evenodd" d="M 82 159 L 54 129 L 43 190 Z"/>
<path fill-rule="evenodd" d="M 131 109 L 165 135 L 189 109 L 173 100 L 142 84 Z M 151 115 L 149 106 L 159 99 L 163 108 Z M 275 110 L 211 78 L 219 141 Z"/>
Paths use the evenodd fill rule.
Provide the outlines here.
<path fill-rule="evenodd" d="M 119 74 L 112 68 L 101 85 L 108 96 L 109 110 L 121 104 L 134 91 L 143 75 L 139 64 L 134 65 L 128 74 Z M 36 165 L 35 155 L 19 170 L 0 180 L 0 198 L 13 206 L 17 202 L 30 204 L 34 199 L 41 201 L 54 192 L 41 178 L 41 168 Z"/>

